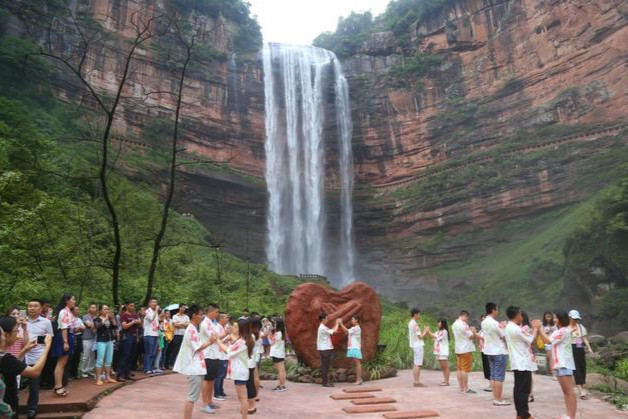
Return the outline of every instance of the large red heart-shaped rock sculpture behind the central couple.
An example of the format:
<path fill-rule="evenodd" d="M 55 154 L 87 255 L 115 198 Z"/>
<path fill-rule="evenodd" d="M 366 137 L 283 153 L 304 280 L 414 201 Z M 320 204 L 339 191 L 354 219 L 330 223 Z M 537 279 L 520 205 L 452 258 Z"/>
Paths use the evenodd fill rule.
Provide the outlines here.
<path fill-rule="evenodd" d="M 382 306 L 373 288 L 363 282 L 354 282 L 342 291 L 335 291 L 308 282 L 299 285 L 290 294 L 286 305 L 287 333 L 299 357 L 314 368 L 321 365 L 316 350 L 318 316 L 321 312 L 328 315 L 327 326 L 333 327 L 336 319 L 342 318 L 347 328 L 351 327 L 351 316 L 358 314 L 362 327 L 362 358 L 373 358 L 377 351 L 382 317 Z M 334 347 L 337 355 L 344 354 L 347 349 L 346 335 L 341 342 Z"/>

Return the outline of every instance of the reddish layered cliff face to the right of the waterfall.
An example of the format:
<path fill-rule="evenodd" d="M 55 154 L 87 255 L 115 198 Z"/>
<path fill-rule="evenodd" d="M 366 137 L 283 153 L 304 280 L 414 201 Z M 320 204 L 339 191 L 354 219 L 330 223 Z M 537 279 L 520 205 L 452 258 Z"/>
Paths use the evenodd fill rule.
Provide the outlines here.
<path fill-rule="evenodd" d="M 465 263 L 622 163 L 626 132 L 599 131 L 628 116 L 627 16 L 612 0 L 461 0 L 412 26 L 412 54 L 384 32 L 346 59 L 363 275 L 422 305 L 502 297 Z M 539 282 L 560 290 L 559 276 Z"/>

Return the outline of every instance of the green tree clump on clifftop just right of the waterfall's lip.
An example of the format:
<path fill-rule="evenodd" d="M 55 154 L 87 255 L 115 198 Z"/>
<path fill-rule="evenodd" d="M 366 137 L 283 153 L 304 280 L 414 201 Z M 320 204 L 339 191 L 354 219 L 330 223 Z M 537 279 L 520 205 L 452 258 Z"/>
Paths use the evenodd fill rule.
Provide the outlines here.
<path fill-rule="evenodd" d="M 347 17 L 338 18 L 335 32 L 323 32 L 313 44 L 336 53 L 338 58 L 351 56 L 359 51 L 371 33 L 373 15 L 371 12 L 351 12 Z"/>

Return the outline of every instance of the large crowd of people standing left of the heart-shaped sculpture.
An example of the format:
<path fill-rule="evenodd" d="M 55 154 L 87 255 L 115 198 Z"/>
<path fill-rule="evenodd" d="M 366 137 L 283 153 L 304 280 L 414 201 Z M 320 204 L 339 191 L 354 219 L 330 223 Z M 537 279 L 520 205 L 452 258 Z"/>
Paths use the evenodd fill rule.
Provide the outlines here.
<path fill-rule="evenodd" d="M 262 358 L 272 359 L 277 370 L 272 391 L 286 391 L 286 332 L 279 315 L 244 310 L 234 318 L 216 304 L 162 309 L 154 298 L 146 307 L 127 301 L 118 310 L 89 304 L 81 315 L 74 296 L 64 294 L 54 308 L 39 299 L 26 310 L 9 308 L 0 318 L 0 339 L 0 418 L 18 416 L 20 388 L 29 389 L 27 417 L 34 418 L 40 389 L 62 398 L 69 395 L 68 380 L 103 386 L 169 369 L 188 376 L 185 417 L 201 397 L 201 410 L 215 413 L 216 401 L 230 397 L 227 378 L 235 381 L 234 398 L 246 417 L 257 411 Z"/>

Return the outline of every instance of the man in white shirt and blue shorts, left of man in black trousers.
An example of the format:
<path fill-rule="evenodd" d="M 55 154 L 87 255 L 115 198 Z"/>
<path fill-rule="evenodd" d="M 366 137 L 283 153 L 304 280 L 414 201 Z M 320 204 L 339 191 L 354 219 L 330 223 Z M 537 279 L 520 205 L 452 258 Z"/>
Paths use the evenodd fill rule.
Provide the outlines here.
<path fill-rule="evenodd" d="M 499 308 L 495 303 L 486 303 L 486 318 L 482 321 L 482 335 L 484 337 L 484 355 L 490 364 L 490 381 L 493 390 L 493 405 L 508 406 L 509 402 L 502 398 L 504 380 L 506 379 L 506 364 L 508 363 L 508 349 L 504 342 L 504 325 L 497 322 Z"/>

